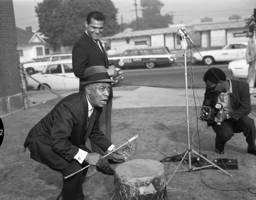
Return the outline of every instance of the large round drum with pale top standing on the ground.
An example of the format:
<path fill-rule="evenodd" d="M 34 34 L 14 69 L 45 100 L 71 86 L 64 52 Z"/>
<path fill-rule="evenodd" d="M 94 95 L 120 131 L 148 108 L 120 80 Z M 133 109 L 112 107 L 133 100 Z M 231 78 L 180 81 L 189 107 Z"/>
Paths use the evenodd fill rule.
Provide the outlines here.
<path fill-rule="evenodd" d="M 158 161 L 137 159 L 120 164 L 114 184 L 117 200 L 167 199 L 165 170 Z"/>

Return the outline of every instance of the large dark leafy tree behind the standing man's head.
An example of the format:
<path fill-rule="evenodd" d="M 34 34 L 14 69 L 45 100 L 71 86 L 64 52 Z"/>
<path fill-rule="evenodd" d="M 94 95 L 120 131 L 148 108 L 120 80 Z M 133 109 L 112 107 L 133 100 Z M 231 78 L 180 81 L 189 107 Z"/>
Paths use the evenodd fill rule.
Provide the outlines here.
<path fill-rule="evenodd" d="M 51 45 L 73 46 L 85 30 L 88 13 L 96 10 L 105 16 L 103 34 L 117 33 L 117 9 L 111 0 L 44 0 L 35 7 L 39 32 Z"/>

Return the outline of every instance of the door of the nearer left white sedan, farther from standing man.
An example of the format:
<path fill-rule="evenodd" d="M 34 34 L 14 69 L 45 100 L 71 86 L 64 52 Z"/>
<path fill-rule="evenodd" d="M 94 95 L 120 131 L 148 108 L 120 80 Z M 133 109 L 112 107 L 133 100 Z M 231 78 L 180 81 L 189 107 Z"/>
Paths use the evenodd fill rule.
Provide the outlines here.
<path fill-rule="evenodd" d="M 61 64 L 48 65 L 44 82 L 47 83 L 52 90 L 65 90 Z"/>

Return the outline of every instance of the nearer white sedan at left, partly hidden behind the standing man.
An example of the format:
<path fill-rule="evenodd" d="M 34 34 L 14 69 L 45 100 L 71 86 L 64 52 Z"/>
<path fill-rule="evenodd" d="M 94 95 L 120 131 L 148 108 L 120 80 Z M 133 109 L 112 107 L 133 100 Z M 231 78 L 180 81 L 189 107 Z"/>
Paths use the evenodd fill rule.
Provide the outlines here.
<path fill-rule="evenodd" d="M 75 77 L 72 68 L 72 59 L 57 60 L 46 64 L 44 70 L 31 75 L 40 83 L 27 77 L 28 87 L 32 90 L 45 90 L 45 86 L 52 90 L 72 90 L 79 88 L 79 78 Z M 123 72 L 117 68 L 116 77 L 112 78 L 115 82 L 112 86 L 123 80 Z"/>

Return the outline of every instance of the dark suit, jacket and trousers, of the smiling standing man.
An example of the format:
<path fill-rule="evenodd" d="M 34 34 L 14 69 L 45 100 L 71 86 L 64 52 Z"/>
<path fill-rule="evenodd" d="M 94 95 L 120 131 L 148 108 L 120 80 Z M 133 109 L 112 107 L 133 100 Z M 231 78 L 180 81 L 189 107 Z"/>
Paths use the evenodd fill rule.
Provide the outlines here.
<path fill-rule="evenodd" d="M 99 40 L 98 40 L 99 41 Z M 90 66 L 103 65 L 105 68 L 109 68 L 109 59 L 106 52 L 99 41 L 102 51 L 97 46 L 96 42 L 86 33 L 78 39 L 72 50 L 72 63 L 73 70 L 76 77 L 80 79 L 80 82 L 84 81 L 84 71 Z M 78 86 L 78 85 L 77 85 Z M 81 85 L 79 91 L 83 90 Z M 100 129 L 105 134 L 105 137 L 111 141 L 111 118 L 112 118 L 112 98 L 113 91 L 111 88 L 110 97 L 106 106 L 103 107 L 102 114 L 100 116 Z M 93 152 L 97 152 L 104 155 L 104 152 L 98 148 L 98 146 L 91 141 Z M 107 159 L 104 159 L 107 163 Z"/>

